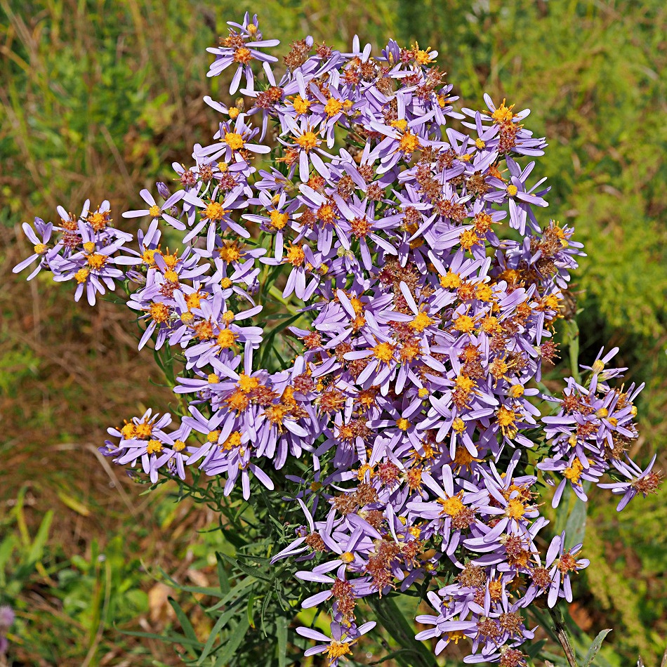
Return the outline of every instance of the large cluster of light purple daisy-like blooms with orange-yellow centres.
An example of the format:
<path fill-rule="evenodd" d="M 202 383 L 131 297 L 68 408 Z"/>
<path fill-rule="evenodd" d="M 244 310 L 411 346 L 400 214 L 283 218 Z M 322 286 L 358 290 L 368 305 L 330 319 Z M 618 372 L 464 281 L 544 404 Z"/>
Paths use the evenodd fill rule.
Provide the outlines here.
<path fill-rule="evenodd" d="M 661 478 L 628 455 L 642 385 L 621 384 L 618 350 L 581 370 L 574 355 L 560 395 L 541 381 L 583 254 L 545 216 L 546 140 L 505 100 L 455 111 L 435 51 L 306 37 L 280 61 L 256 16 L 229 25 L 209 77 L 241 97 L 205 98 L 213 143 L 123 213 L 134 246 L 86 201 L 24 224 L 15 271 L 91 305 L 121 286 L 176 408 L 110 428 L 101 451 L 221 511 L 268 508 L 265 534 L 282 529 L 264 562 L 329 614 L 329 633 L 296 628 L 317 642 L 305 655 L 335 667 L 375 625 L 362 602 L 391 619 L 403 593 L 432 607 L 416 639 L 435 654 L 524 665 L 529 612 L 571 602 L 588 565 L 549 535 L 549 487 L 554 507 L 595 484 L 621 510 Z"/>

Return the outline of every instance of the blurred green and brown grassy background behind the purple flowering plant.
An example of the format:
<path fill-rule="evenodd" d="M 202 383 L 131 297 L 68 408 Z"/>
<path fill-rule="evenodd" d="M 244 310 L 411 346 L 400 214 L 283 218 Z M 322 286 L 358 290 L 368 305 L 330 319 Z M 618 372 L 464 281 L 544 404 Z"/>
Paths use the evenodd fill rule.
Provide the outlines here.
<path fill-rule="evenodd" d="M 69 286 L 26 284 L 20 223 L 112 202 L 169 180 L 173 160 L 205 143 L 206 46 L 226 20 L 258 13 L 283 46 L 312 34 L 338 48 L 418 41 L 440 52 L 454 91 L 530 107 L 548 138 L 550 217 L 573 224 L 588 257 L 576 274 L 581 357 L 619 345 L 645 381 L 633 456 L 659 452 L 667 422 L 667 7 L 662 0 L 0 0 L 0 599 L 18 611 L 10 663 L 177 664 L 169 647 L 120 630 L 174 622 L 158 567 L 206 586 L 220 548 L 197 532 L 213 517 L 143 487 L 95 453 L 107 425 L 166 407 L 157 367 L 139 359 L 109 303 L 72 302 Z M 537 173 L 537 171 L 536 171 Z M 129 333 L 128 333 L 129 332 Z M 173 491 L 173 489 L 172 489 Z M 590 503 L 586 556 L 570 609 L 606 655 L 659 663 L 667 637 L 667 494 L 617 517 Z M 194 626 L 206 633 L 206 627 Z M 205 623 L 204 619 L 199 619 Z M 305 663 L 304 663 L 305 664 Z M 311 662 L 312 664 L 312 662 Z"/>

